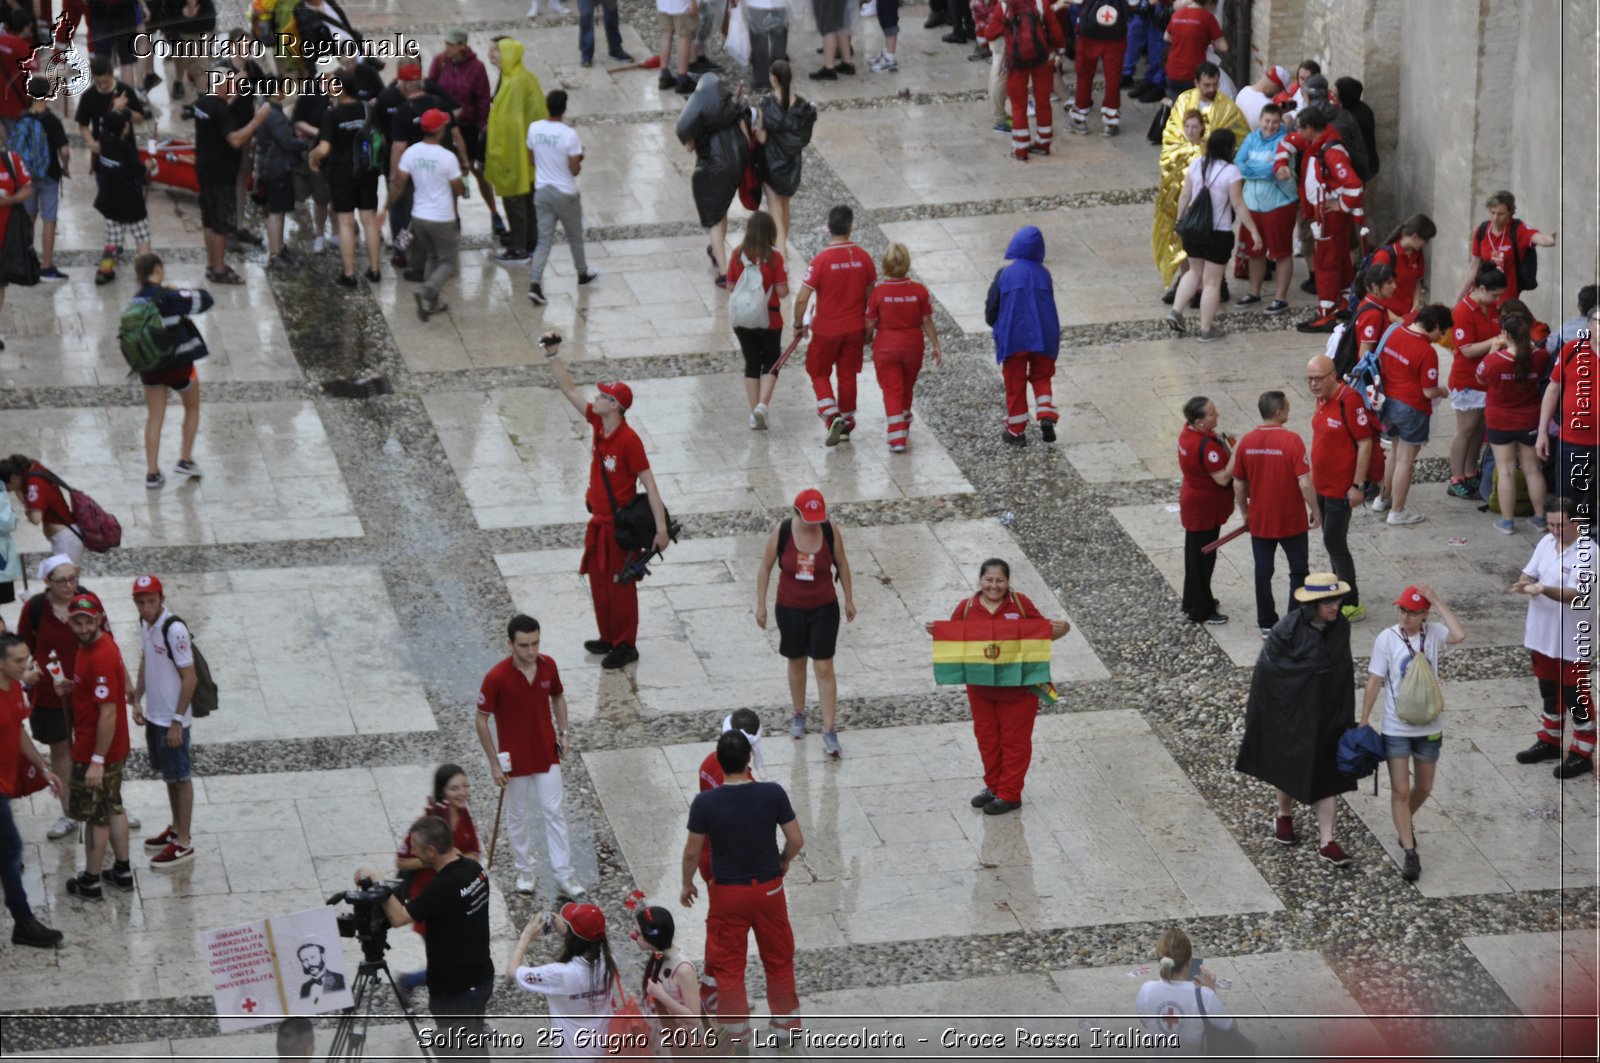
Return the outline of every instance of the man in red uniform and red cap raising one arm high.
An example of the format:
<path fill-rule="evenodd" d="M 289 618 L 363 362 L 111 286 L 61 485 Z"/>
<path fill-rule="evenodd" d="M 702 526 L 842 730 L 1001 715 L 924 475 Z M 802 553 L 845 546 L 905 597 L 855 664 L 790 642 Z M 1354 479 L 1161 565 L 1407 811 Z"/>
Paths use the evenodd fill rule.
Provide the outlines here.
<path fill-rule="evenodd" d="M 560 335 L 546 333 L 539 343 L 544 346 L 544 357 L 550 360 L 555 386 L 594 429 L 594 461 L 589 467 L 589 491 L 584 495 L 589 528 L 584 532 L 584 559 L 578 565 L 578 575 L 589 576 L 600 637 L 586 640 L 584 650 L 605 655 L 600 668 L 622 668 L 638 660 L 634 645 L 638 640 L 638 581 L 618 578 L 637 556 L 616 541 L 616 514 L 634 501 L 643 483 L 650 512 L 656 519 L 651 549 L 659 552 L 667 549 L 669 541 L 667 509 L 661 504 L 661 490 L 650 471 L 645 443 L 624 419 L 627 408 L 634 405 L 634 391 L 622 381 L 603 381 L 595 384 L 594 400 L 586 402 L 560 359 Z"/>

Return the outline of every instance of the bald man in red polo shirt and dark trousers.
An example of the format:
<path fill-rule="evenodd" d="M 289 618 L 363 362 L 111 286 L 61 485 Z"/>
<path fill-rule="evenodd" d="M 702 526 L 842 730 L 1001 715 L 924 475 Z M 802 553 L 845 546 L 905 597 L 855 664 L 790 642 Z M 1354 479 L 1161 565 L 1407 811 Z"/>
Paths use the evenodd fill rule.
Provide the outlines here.
<path fill-rule="evenodd" d="M 1378 418 L 1333 371 L 1333 359 L 1318 354 L 1306 365 L 1306 386 L 1317 408 L 1310 415 L 1310 483 L 1322 514 L 1322 544 L 1333 572 L 1350 592 L 1339 612 L 1352 624 L 1366 620 L 1350 557 L 1350 512 L 1366 501 L 1365 485 L 1382 475 L 1384 450 L 1378 445 Z"/>

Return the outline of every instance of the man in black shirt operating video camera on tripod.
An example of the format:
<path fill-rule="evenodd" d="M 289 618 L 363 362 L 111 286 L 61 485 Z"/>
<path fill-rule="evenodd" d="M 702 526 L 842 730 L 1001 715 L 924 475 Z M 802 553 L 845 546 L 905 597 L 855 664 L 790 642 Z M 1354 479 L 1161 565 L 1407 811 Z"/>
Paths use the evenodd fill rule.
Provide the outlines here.
<path fill-rule="evenodd" d="M 438 1029 L 429 1045 L 434 1055 L 482 1055 L 483 1012 L 494 991 L 490 959 L 490 880 L 475 860 L 461 856 L 450 824 L 422 816 L 411 824 L 411 855 L 434 872 L 421 893 L 402 901 L 384 898 L 389 924 L 426 922 L 427 1004 Z M 355 882 L 381 880 L 382 871 L 362 868 Z"/>

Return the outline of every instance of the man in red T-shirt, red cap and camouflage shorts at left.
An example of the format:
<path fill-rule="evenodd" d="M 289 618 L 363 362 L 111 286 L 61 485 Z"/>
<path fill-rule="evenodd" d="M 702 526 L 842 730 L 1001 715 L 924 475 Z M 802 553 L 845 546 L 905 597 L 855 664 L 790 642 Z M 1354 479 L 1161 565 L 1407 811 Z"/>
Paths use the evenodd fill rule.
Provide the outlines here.
<path fill-rule="evenodd" d="M 72 701 L 72 786 L 69 815 L 82 820 L 83 874 L 67 880 L 67 893 L 86 901 L 102 898 L 101 864 L 110 840 L 109 879 L 120 890 L 133 890 L 128 866 L 128 813 L 122 807 L 122 765 L 128 759 L 128 671 L 122 650 L 104 628 L 106 608 L 93 594 L 78 594 L 67 604 L 67 623 L 78 640 L 72 679 L 61 679 L 58 692 Z"/>

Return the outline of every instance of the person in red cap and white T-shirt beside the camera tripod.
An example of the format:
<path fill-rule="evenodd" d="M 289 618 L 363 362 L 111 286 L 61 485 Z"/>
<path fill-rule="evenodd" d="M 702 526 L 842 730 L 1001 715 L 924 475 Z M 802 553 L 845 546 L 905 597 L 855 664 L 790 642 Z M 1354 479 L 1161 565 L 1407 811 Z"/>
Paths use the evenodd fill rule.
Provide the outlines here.
<path fill-rule="evenodd" d="M 528 967 L 523 959 L 536 937 L 557 935 L 560 953 L 550 964 Z M 550 1009 L 557 1058 L 605 1058 L 598 1037 L 611 1018 L 611 991 L 618 981 L 611 943 L 605 937 L 605 913 L 571 901 L 562 913 L 534 913 L 506 961 L 518 989 L 538 993 Z"/>

